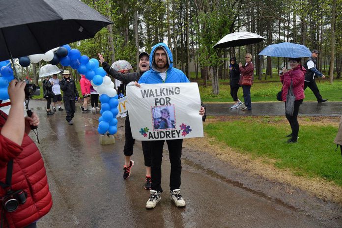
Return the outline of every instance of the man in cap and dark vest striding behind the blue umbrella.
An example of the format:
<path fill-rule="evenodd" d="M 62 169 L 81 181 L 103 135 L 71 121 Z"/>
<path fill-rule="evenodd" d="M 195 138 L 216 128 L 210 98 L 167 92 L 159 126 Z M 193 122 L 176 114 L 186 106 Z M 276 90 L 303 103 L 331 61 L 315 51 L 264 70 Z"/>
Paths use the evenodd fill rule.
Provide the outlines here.
<path fill-rule="evenodd" d="M 325 75 L 317 70 L 316 58 L 318 57 L 318 54 L 318 50 L 314 49 L 312 51 L 311 57 L 309 57 L 304 64 L 304 67 L 307 71 L 305 74 L 304 90 L 309 87 L 314 92 L 314 96 L 316 97 L 317 102 L 322 103 L 326 102 L 328 99 L 322 98 L 319 93 L 316 81 L 314 80 L 315 77 L 322 77 L 322 79 L 325 79 Z"/>

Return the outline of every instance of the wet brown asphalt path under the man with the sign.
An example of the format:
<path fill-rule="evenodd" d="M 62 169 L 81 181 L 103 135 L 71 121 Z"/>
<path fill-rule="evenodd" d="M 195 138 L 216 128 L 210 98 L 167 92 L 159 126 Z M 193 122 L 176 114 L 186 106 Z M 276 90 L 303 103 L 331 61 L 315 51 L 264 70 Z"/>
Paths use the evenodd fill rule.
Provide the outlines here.
<path fill-rule="evenodd" d="M 30 103 L 40 116 L 41 143 L 38 147 L 45 161 L 54 200 L 50 213 L 38 222 L 39 228 L 327 227 L 322 223 L 326 221 L 317 220 L 279 200 L 262 197 L 243 185 L 208 174 L 203 167 L 189 160 L 187 151 L 183 153 L 181 185 L 186 207 L 177 208 L 169 198 L 170 163 L 165 151 L 162 199 L 156 208 L 146 210 L 149 192 L 143 189 L 140 142 L 136 143 L 132 157 L 135 165 L 131 177 L 128 180 L 122 178 L 122 119 L 119 119 L 115 144 L 104 146 L 99 144 L 96 130 L 98 112 L 83 114 L 76 107 L 74 125 L 69 126 L 65 111 L 46 116 L 45 108 L 40 108 L 44 105 L 45 102 L 40 101 Z M 30 136 L 35 139 L 33 134 Z M 338 227 L 335 225 L 329 223 L 329 227 Z"/>

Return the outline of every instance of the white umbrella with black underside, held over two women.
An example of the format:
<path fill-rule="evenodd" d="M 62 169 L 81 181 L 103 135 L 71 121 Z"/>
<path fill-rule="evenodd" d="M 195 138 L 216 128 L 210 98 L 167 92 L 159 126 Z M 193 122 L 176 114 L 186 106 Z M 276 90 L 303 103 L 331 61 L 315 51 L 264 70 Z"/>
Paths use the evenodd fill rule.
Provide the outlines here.
<path fill-rule="evenodd" d="M 219 42 L 214 45 L 214 48 L 229 48 L 239 47 L 248 44 L 259 43 L 266 38 L 248 31 L 240 31 L 225 35 Z"/>

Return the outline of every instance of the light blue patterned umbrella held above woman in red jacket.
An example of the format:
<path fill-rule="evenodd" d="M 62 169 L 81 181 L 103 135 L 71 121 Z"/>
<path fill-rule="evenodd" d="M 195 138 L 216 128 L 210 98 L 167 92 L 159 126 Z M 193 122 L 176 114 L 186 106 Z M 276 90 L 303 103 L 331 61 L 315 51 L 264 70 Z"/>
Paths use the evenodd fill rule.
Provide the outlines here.
<path fill-rule="evenodd" d="M 311 52 L 304 45 L 285 42 L 268 45 L 259 56 L 300 58 L 311 57 Z"/>

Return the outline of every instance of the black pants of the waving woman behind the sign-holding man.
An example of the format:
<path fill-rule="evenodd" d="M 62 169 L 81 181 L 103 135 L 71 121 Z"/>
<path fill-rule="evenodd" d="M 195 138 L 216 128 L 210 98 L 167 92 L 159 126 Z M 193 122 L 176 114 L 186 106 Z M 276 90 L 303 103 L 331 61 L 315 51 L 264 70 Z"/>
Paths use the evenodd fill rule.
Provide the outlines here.
<path fill-rule="evenodd" d="M 133 155 L 133 146 L 135 139 L 133 139 L 131 126 L 129 122 L 128 112 L 125 120 L 125 146 L 123 147 L 123 154 L 125 156 Z M 151 152 L 149 149 L 149 141 L 142 141 L 142 153 L 144 158 L 144 164 L 147 167 L 151 166 Z"/>

